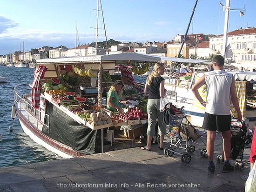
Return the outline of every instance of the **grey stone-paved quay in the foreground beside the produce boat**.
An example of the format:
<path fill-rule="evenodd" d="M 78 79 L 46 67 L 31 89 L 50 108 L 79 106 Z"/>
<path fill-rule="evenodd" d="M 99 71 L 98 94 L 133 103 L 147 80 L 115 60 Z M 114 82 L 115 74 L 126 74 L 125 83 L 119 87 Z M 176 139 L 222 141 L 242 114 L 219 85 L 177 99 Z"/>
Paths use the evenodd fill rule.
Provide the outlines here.
<path fill-rule="evenodd" d="M 218 134 L 215 157 L 220 146 Z M 207 172 L 208 159 L 201 156 L 201 148 L 191 153 L 189 164 L 182 163 L 181 155 L 168 157 L 154 145 L 152 152 L 136 146 L 85 158 L 4 167 L 0 169 L 0 192 L 243 192 L 245 181 L 240 176 L 249 172 L 249 164 L 242 171 L 222 173 L 223 164 L 215 160 L 212 175 Z M 247 148 L 244 159 L 249 159 Z"/>

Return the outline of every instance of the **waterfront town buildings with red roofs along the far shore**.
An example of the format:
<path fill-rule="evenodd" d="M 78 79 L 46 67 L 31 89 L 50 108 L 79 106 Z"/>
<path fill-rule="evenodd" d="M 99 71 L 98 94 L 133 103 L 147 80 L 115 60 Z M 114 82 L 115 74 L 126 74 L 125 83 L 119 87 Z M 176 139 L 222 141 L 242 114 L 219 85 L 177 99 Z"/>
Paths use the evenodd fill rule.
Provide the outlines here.
<path fill-rule="evenodd" d="M 16 51 L 7 55 L 0 55 L 0 63 L 7 65 L 20 61 L 33 62 L 45 58 L 88 56 L 96 54 L 116 54 L 125 52 L 135 52 L 152 54 L 165 57 L 177 57 L 182 46 L 184 35 L 177 34 L 173 40 L 166 42 L 144 43 L 119 43 L 112 45 L 108 49 L 98 47 L 97 51 L 91 44 L 83 44 L 74 48 L 58 46 L 56 48 L 44 46 L 32 49 L 29 52 Z M 188 59 L 211 60 L 216 54 L 223 53 L 223 34 L 188 34 L 182 46 L 181 55 Z M 256 28 L 238 28 L 228 33 L 228 50 L 226 48 L 226 62 L 243 66 L 245 70 L 250 70 L 256 62 Z"/>

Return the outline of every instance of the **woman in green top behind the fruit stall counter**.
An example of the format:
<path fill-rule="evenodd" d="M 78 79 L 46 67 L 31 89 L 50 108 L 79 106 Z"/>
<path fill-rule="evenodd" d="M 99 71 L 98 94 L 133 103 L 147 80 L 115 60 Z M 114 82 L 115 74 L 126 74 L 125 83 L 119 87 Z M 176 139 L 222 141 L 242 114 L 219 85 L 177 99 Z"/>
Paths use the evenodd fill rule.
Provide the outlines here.
<path fill-rule="evenodd" d="M 120 104 L 129 104 L 129 101 L 123 101 L 121 100 L 121 96 L 123 93 L 123 82 L 121 80 L 116 80 L 114 84 L 110 87 L 108 91 L 108 103 L 107 103 L 107 108 L 110 111 L 117 111 L 118 113 L 121 113 L 121 107 Z M 108 132 L 107 132 L 107 140 L 111 142 L 112 144 L 115 142 L 114 139 L 114 131 L 115 131 L 115 126 L 108 127 Z"/>

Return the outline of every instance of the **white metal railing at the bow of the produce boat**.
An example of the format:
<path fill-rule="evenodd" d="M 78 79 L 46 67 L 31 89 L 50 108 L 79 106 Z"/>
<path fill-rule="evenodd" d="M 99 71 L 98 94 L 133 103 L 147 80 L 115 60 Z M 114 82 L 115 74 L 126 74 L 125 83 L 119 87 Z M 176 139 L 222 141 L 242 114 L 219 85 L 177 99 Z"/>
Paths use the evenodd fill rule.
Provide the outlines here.
<path fill-rule="evenodd" d="M 49 115 L 42 113 L 41 108 L 34 108 L 32 103 L 28 102 L 28 97 L 30 97 L 28 93 L 20 96 L 17 92 L 17 88 L 14 87 L 14 105 L 17 107 L 17 110 L 19 110 L 20 113 L 22 112 L 22 115 L 27 118 L 28 122 L 32 122 L 37 130 L 40 130 L 42 126 L 46 126 L 49 130 L 49 125 L 46 125 L 40 120 L 42 117 L 47 118 L 46 122 L 49 123 Z"/>

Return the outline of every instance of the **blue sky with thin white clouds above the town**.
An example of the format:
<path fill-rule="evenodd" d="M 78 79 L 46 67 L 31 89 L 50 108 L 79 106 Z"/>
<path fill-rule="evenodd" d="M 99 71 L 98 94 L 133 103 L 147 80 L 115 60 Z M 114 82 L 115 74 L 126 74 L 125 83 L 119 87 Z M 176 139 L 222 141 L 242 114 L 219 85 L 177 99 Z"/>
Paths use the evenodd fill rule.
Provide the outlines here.
<path fill-rule="evenodd" d="M 164 42 L 185 34 L 196 0 L 101 0 L 98 42 Z M 223 34 L 220 2 L 198 0 L 188 34 Z M 0 55 L 95 42 L 97 0 L 0 0 Z M 244 9 L 244 15 L 232 9 Z M 230 0 L 228 32 L 256 26 L 256 0 Z M 103 25 L 103 19 L 105 27 Z M 76 27 L 77 26 L 77 27 Z M 104 30 L 105 28 L 105 30 Z M 76 31 L 78 38 L 76 41 Z"/>

